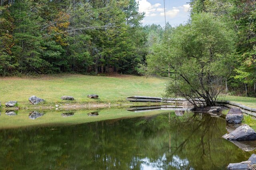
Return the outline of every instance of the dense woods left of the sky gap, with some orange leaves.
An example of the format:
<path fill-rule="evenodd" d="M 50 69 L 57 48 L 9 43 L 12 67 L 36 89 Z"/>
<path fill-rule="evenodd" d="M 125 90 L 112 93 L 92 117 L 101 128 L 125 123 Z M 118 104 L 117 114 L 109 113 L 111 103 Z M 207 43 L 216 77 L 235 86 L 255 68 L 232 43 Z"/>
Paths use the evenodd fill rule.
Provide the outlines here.
<path fill-rule="evenodd" d="M 146 55 L 136 0 L 1 0 L 0 75 L 136 74 Z"/>

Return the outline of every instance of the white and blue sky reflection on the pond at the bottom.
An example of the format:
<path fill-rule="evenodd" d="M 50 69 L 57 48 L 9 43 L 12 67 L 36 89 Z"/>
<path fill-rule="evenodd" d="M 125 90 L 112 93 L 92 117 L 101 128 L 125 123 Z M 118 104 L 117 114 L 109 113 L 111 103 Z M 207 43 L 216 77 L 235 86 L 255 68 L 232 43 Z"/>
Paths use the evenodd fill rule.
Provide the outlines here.
<path fill-rule="evenodd" d="M 166 154 L 164 154 L 162 157 L 160 157 L 156 162 L 150 162 L 150 159 L 143 158 L 140 160 L 142 170 L 163 170 L 163 166 L 166 162 Z M 180 169 L 188 169 L 194 170 L 194 168 L 189 167 L 189 161 L 188 159 L 181 159 L 178 155 L 172 156 L 172 162 L 169 162 L 168 165 L 172 166 L 173 168 L 176 168 L 178 170 Z M 132 166 L 130 168 L 133 168 Z"/>

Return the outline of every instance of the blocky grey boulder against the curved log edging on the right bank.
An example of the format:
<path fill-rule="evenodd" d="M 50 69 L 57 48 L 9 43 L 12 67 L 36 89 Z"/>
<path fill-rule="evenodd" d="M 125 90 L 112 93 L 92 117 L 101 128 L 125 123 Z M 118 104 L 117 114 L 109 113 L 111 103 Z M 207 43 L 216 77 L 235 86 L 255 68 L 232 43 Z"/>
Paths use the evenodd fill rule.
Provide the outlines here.
<path fill-rule="evenodd" d="M 228 114 L 226 115 L 227 123 L 242 123 L 242 119 L 244 118 L 244 114 L 240 109 L 230 109 Z"/>

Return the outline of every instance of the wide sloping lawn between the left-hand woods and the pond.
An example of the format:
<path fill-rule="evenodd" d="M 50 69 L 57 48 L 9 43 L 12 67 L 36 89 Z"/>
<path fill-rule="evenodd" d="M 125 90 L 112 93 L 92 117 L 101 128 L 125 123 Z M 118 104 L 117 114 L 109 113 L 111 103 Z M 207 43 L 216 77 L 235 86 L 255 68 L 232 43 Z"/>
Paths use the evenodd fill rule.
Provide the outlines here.
<path fill-rule="evenodd" d="M 2 106 L 8 101 L 18 101 L 19 107 L 31 107 L 28 98 L 32 95 L 46 102 L 41 106 L 55 103 L 122 103 L 133 95 L 162 96 L 167 78 L 120 76 L 100 77 L 79 74 L 33 77 L 0 78 L 0 101 Z M 87 95 L 97 94 L 99 99 L 89 99 Z M 70 95 L 74 101 L 60 99 Z M 39 105 L 39 106 L 40 106 Z"/>

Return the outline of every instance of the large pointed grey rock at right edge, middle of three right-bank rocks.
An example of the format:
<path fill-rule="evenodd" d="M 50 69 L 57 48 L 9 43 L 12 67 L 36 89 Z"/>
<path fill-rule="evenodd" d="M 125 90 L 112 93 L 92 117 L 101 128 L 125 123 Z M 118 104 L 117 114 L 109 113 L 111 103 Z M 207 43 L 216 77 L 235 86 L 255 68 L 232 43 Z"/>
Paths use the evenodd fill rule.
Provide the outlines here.
<path fill-rule="evenodd" d="M 229 134 L 224 134 L 222 137 L 227 140 L 256 140 L 256 132 L 245 124 Z"/>

